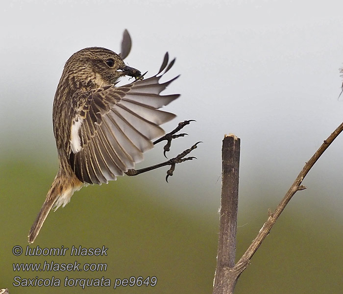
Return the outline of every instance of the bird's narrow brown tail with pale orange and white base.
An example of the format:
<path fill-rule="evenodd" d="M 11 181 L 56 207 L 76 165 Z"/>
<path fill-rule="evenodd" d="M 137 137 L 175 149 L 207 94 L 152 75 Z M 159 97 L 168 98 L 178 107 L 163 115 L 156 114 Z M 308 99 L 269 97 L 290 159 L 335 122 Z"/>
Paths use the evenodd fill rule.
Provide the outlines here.
<path fill-rule="evenodd" d="M 43 203 L 43 206 L 30 229 L 30 232 L 28 234 L 28 243 L 32 244 L 37 238 L 39 231 L 41 230 L 51 208 L 54 205 L 56 206 L 56 209 L 61 205 L 63 205 L 64 207 L 70 201 L 70 198 L 72 197 L 74 191 L 79 190 L 81 187 L 77 187 L 75 189 L 73 183 L 66 181 L 65 177 L 59 174 L 56 175 L 49 189 L 48 195 Z"/>

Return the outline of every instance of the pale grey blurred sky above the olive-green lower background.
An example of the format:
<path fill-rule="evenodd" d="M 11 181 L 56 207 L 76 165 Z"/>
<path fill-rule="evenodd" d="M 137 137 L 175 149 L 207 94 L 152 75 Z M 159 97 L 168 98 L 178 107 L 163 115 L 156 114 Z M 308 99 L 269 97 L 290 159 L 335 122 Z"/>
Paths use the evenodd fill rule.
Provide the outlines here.
<path fill-rule="evenodd" d="M 185 129 L 189 137 L 172 143 L 171 155 L 204 142 L 194 151 L 198 160 L 177 166 L 169 185 L 165 171 L 143 175 L 153 179 L 151 189 L 161 197 L 169 191 L 180 206 L 217 209 L 221 140 L 235 133 L 242 140 L 241 207 L 264 197 L 276 203 L 343 121 L 342 10 L 339 0 L 4 1 L 1 157 L 57 162 L 51 109 L 64 63 L 85 47 L 119 52 L 127 28 L 128 65 L 149 75 L 166 51 L 176 57 L 168 77 L 181 76 L 166 93 L 182 96 L 166 108 L 178 117 L 165 128 L 197 122 Z M 309 189 L 297 195 L 340 217 L 342 151 L 341 135 L 308 175 Z M 147 162 L 161 155 L 161 147 L 152 150 Z"/>

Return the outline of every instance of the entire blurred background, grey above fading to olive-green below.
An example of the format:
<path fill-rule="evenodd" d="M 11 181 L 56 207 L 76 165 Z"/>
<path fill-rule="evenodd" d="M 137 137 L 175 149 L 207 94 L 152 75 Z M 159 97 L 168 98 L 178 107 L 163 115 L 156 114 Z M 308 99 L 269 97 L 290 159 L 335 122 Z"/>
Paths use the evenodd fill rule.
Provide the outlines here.
<path fill-rule="evenodd" d="M 309 11 L 311 7 L 311 12 Z M 342 122 L 343 3 L 289 1 L 20 1 L 0 11 L 0 288 L 16 293 L 211 293 L 221 192 L 221 140 L 241 138 L 237 257 L 322 140 Z M 50 213 L 31 247 L 108 247 L 103 257 L 14 256 L 57 172 L 51 108 L 63 65 L 82 48 L 118 52 L 148 74 L 165 51 L 181 77 L 177 119 L 196 119 L 170 157 L 197 141 L 196 161 L 89 186 Z M 167 93 L 166 91 L 166 93 Z M 343 293 L 343 137 L 324 153 L 241 275 L 235 293 Z M 164 160 L 163 147 L 144 167 Z M 68 255 L 68 254 L 67 254 Z M 23 272 L 13 263 L 107 263 L 105 272 Z M 13 287 L 14 276 L 110 278 L 112 287 Z M 156 276 L 113 289 L 116 278 Z M 62 281 L 63 282 L 63 281 Z"/>

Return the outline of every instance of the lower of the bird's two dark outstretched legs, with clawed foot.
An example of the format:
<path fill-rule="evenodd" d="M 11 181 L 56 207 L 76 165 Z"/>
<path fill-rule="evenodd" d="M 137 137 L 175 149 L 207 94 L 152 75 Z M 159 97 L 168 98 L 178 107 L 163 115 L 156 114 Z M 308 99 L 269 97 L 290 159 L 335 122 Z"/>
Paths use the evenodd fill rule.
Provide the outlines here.
<path fill-rule="evenodd" d="M 169 176 L 172 176 L 174 170 L 175 170 L 175 165 L 177 163 L 181 163 L 181 162 L 184 162 L 186 160 L 192 160 L 192 159 L 196 159 L 196 157 L 194 156 L 190 156 L 190 157 L 186 157 L 184 158 L 187 154 L 189 154 L 192 150 L 194 150 L 197 145 L 201 143 L 201 142 L 197 142 L 196 144 L 194 144 L 191 148 L 188 148 L 186 149 L 185 151 L 183 151 L 182 153 L 180 153 L 179 155 L 177 155 L 176 157 L 170 159 L 170 160 L 167 160 L 165 162 L 162 162 L 162 163 L 159 163 L 159 164 L 156 164 L 156 165 L 153 165 L 151 167 L 147 167 L 147 168 L 144 168 L 144 169 L 140 169 L 140 170 L 128 170 L 127 172 L 125 172 L 127 175 L 138 175 L 140 173 L 143 173 L 143 172 L 149 172 L 149 171 L 152 171 L 152 170 L 155 170 L 155 169 L 158 169 L 158 168 L 161 168 L 161 167 L 164 167 L 164 166 L 171 166 L 171 168 L 167 171 L 167 176 L 166 176 L 166 181 L 168 182 L 168 177 Z"/>

